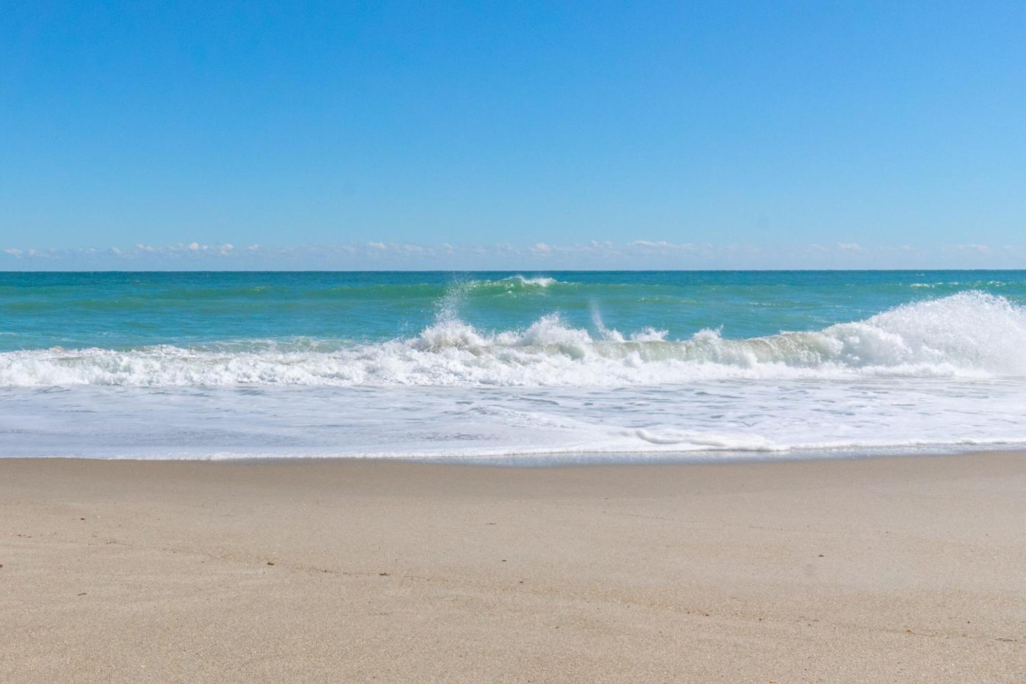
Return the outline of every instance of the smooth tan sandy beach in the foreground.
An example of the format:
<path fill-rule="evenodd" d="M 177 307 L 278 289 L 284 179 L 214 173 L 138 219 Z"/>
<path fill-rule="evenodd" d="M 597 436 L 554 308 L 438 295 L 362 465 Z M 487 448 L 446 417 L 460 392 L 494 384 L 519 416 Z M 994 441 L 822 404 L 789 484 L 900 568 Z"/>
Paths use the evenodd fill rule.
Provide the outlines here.
<path fill-rule="evenodd" d="M 0 459 L 0 681 L 1020 682 L 1024 491 L 1013 452 Z"/>

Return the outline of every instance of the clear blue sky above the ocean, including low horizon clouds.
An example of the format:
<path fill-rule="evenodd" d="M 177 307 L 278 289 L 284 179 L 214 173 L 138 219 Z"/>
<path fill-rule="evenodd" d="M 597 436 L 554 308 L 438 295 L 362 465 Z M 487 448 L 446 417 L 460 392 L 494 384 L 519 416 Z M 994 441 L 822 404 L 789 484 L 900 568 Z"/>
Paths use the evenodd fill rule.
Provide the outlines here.
<path fill-rule="evenodd" d="M 1026 266 L 1022 2 L 0 8 L 0 268 Z"/>

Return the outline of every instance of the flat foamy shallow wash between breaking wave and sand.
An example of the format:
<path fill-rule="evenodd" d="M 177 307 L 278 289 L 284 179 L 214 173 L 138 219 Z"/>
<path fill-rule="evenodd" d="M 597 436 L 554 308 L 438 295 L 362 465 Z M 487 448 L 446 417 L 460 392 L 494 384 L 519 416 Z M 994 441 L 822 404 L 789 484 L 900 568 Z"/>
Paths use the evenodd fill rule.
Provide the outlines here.
<path fill-rule="evenodd" d="M 1021 380 L 0 391 L 0 457 L 814 457 L 1026 444 Z"/>

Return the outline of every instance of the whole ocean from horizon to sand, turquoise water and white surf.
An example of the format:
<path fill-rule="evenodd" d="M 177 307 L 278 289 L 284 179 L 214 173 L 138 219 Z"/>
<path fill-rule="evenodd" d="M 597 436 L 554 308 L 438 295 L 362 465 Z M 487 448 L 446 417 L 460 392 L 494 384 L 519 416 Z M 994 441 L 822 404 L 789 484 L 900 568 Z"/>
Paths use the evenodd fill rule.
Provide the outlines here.
<path fill-rule="evenodd" d="M 0 273 L 0 456 L 1026 445 L 1026 271 Z"/>

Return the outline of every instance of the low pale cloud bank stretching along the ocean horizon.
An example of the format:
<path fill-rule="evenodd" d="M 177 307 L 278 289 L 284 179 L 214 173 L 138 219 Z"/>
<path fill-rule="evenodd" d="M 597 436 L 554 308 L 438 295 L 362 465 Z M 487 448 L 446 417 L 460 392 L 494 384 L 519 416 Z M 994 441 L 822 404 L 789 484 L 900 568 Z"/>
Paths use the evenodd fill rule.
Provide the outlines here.
<path fill-rule="evenodd" d="M 856 242 L 804 245 L 713 244 L 636 239 L 516 245 L 418 244 L 370 240 L 299 246 L 179 241 L 74 249 L 0 244 L 2 270 L 250 269 L 774 269 L 1023 268 L 1026 246 L 950 244 L 914 248 Z"/>

